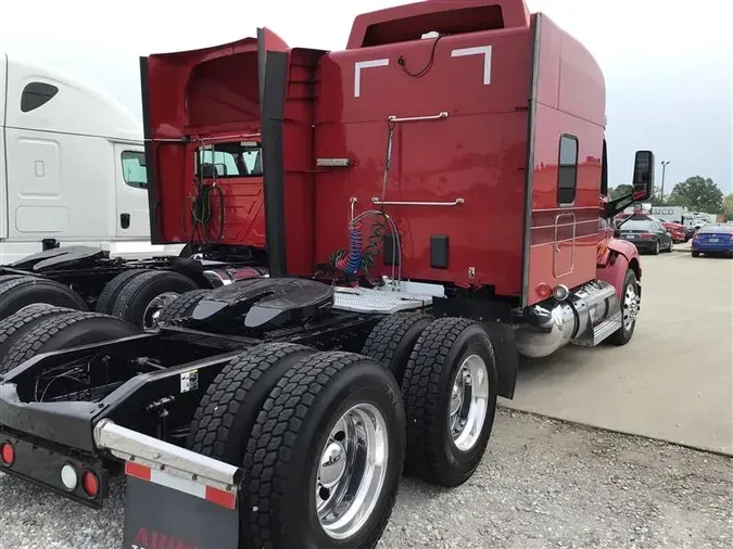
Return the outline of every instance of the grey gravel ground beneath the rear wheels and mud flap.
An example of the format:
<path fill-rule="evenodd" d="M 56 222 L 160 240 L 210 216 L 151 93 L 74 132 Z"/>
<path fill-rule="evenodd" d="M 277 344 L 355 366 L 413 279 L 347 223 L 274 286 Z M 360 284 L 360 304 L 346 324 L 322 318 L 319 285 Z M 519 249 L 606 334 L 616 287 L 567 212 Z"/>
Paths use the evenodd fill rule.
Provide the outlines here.
<path fill-rule="evenodd" d="M 122 482 L 98 512 L 0 475 L 0 548 L 119 547 Z M 733 460 L 500 410 L 464 486 L 405 480 L 380 548 L 733 547 Z"/>

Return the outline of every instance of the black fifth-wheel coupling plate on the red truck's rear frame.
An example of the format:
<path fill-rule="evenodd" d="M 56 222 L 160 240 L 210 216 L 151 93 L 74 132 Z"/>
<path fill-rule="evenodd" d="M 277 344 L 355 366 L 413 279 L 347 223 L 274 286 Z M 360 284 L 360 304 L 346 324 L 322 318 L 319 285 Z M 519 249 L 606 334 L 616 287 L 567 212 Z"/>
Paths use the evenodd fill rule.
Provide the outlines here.
<path fill-rule="evenodd" d="M 247 328 L 282 325 L 313 318 L 333 304 L 333 289 L 315 280 L 262 278 L 213 290 L 191 311 L 193 321 L 217 321 L 245 315 Z"/>

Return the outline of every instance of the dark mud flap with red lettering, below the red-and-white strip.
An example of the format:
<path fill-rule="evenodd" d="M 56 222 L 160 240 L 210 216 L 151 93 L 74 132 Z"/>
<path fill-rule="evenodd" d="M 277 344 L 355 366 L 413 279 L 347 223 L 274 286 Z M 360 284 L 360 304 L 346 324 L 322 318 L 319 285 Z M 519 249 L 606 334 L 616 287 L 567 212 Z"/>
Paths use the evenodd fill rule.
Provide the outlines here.
<path fill-rule="evenodd" d="M 167 486 L 127 476 L 123 547 L 237 549 L 239 511 Z"/>

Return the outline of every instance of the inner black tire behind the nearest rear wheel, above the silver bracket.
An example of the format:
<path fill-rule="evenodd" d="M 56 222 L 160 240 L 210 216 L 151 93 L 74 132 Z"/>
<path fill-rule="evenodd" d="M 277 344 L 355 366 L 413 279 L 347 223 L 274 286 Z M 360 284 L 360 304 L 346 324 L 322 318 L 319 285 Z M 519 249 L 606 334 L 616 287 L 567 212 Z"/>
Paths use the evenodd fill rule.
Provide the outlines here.
<path fill-rule="evenodd" d="M 241 465 L 252 425 L 270 391 L 288 369 L 313 353 L 303 345 L 266 343 L 233 358 L 201 398 L 189 448 Z"/>

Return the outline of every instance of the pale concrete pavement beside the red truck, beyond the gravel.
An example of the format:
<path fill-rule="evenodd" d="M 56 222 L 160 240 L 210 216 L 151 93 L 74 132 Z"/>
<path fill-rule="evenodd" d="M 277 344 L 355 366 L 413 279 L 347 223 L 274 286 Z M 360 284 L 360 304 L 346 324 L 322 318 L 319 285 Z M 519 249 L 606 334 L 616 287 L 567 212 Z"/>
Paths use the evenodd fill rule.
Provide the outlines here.
<path fill-rule="evenodd" d="M 642 257 L 624 347 L 523 362 L 508 406 L 733 455 L 733 259 Z"/>

